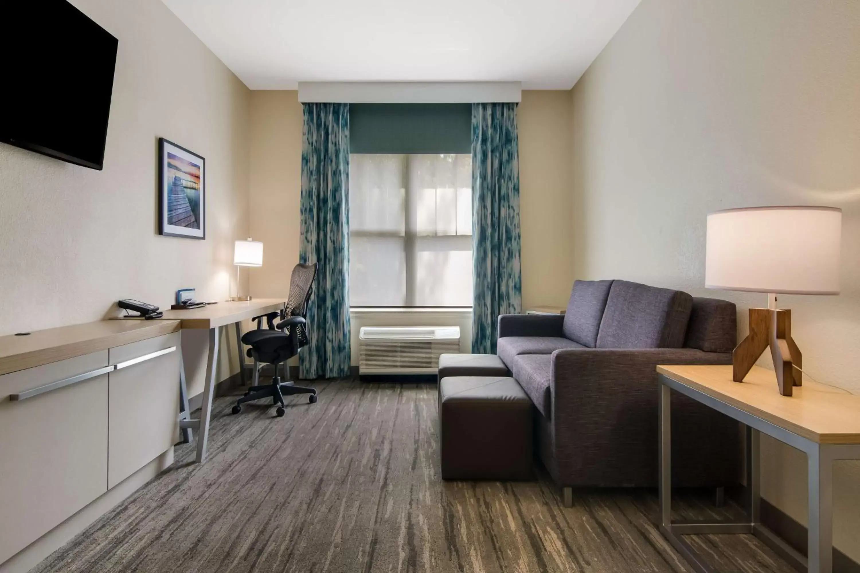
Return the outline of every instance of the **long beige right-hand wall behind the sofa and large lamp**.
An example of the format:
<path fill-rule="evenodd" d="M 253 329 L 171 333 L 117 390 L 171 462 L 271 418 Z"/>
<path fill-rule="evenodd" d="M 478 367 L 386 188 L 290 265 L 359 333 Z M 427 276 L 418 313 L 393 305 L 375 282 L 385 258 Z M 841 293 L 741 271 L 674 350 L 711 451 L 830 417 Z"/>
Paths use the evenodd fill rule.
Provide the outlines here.
<path fill-rule="evenodd" d="M 705 215 L 841 207 L 842 294 L 780 304 L 808 374 L 860 392 L 858 29 L 855 0 L 643 0 L 573 89 L 576 276 L 764 306 L 703 290 Z M 763 473 L 765 498 L 805 522 L 804 456 L 766 440 Z M 860 465 L 835 482 L 836 545 L 860 561 Z"/>

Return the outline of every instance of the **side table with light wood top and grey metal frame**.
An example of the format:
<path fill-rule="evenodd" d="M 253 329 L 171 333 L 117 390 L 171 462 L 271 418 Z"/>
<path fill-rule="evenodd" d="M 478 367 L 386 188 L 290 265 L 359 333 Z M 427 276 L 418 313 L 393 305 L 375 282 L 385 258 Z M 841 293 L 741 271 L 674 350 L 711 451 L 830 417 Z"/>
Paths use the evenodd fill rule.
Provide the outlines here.
<path fill-rule="evenodd" d="M 746 380 L 732 380 L 731 366 L 658 366 L 660 382 L 660 531 L 700 573 L 713 570 L 683 535 L 753 533 L 798 568 L 832 571 L 832 466 L 860 460 L 860 396 L 804 381 L 793 396 L 777 390 L 776 375 L 753 367 Z M 671 391 L 683 393 L 746 424 L 748 519 L 743 522 L 672 521 Z M 760 432 L 807 454 L 808 557 L 762 525 L 759 515 Z"/>

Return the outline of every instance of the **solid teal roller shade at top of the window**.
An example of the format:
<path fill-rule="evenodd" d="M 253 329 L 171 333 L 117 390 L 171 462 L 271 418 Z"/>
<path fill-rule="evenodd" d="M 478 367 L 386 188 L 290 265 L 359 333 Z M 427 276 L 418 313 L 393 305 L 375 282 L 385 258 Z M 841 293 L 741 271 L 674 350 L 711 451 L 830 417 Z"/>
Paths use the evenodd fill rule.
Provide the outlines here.
<path fill-rule="evenodd" d="M 350 153 L 471 153 L 470 103 L 353 103 Z"/>

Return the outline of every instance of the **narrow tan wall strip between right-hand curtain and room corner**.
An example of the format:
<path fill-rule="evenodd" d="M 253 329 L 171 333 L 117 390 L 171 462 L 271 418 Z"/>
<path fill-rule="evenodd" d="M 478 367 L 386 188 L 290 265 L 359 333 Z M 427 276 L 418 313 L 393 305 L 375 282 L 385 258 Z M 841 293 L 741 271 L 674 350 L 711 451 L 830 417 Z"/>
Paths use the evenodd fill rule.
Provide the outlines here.
<path fill-rule="evenodd" d="M 567 306 L 570 257 L 570 92 L 524 91 L 517 110 L 523 309 Z"/>

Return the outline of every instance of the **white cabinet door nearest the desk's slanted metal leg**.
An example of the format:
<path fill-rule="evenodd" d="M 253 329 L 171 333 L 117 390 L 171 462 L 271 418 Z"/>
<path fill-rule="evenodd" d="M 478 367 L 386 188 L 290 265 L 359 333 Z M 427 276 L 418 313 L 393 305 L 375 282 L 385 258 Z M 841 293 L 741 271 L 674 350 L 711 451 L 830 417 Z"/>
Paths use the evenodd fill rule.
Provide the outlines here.
<path fill-rule="evenodd" d="M 179 440 L 180 333 L 110 349 L 107 487 Z"/>

